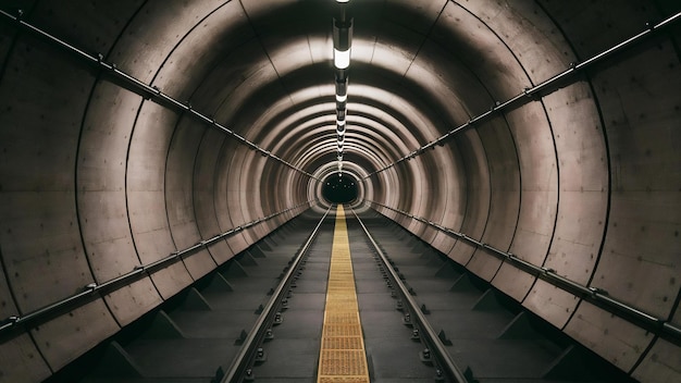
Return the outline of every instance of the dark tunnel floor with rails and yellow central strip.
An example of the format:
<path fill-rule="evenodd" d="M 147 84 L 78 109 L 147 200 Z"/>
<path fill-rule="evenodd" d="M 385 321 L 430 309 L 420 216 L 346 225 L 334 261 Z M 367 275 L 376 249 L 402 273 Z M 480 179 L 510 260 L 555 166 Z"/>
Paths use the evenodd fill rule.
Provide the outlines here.
<path fill-rule="evenodd" d="M 293 220 L 55 374 L 81 382 L 627 382 L 379 214 Z"/>

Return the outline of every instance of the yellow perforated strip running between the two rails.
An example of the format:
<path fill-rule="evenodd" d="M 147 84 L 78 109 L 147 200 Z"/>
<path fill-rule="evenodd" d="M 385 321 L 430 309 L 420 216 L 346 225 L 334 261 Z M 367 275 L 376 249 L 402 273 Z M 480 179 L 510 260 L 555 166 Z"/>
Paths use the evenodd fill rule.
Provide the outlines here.
<path fill-rule="evenodd" d="M 338 206 L 331 250 L 318 383 L 369 383 L 345 211 Z"/>

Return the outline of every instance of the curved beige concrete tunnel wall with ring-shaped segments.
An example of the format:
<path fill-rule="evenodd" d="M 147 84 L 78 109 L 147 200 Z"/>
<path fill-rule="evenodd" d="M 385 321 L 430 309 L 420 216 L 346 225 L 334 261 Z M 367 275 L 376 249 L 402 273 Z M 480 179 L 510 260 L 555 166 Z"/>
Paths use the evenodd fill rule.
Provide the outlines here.
<path fill-rule="evenodd" d="M 354 14 L 345 159 L 363 201 L 643 381 L 678 379 L 679 346 L 426 222 L 681 325 L 678 23 L 555 91 L 374 172 L 679 12 L 672 3 L 358 1 Z M 21 4 L 27 22 L 102 52 L 305 172 L 325 174 L 335 159 L 335 3 L 190 5 Z M 322 206 L 308 175 L 5 21 L 0 58 L 1 318 L 256 221 L 13 333 L 0 345 L 0 380 L 45 379 Z"/>

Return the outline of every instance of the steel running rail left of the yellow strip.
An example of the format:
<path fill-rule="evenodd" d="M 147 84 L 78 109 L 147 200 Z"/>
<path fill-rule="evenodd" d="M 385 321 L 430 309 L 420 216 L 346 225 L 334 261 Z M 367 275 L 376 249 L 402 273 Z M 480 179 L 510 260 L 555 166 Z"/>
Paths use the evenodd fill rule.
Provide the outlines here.
<path fill-rule="evenodd" d="M 317 238 L 317 234 L 322 223 L 329 215 L 329 211 L 331 207 L 326 209 L 326 212 L 319 221 L 308 239 L 302 245 L 302 247 L 298 250 L 298 255 L 295 257 L 295 260 L 290 263 L 288 270 L 282 277 L 282 282 L 276 286 L 274 292 L 272 293 L 272 298 L 268 301 L 268 304 L 263 307 L 260 317 L 253 324 L 252 329 L 248 332 L 248 335 L 244 339 L 244 344 L 239 349 L 236 357 L 232 360 L 228 369 L 224 372 L 224 375 L 221 378 L 221 383 L 237 383 L 240 382 L 244 378 L 246 370 L 249 368 L 249 365 L 252 362 L 253 356 L 256 354 L 257 347 L 264 339 L 264 335 L 267 330 L 270 328 L 270 324 L 273 321 L 273 318 L 276 313 L 276 308 L 281 305 L 282 299 L 284 298 L 285 292 L 288 289 L 290 285 L 292 277 L 294 273 L 299 269 L 300 261 L 307 255 L 310 245 Z"/>

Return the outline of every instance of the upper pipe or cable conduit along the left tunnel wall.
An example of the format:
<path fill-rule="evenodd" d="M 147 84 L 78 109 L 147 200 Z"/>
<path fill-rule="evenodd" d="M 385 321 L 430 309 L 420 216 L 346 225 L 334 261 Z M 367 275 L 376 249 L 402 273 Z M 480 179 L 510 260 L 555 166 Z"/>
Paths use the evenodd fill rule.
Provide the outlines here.
<path fill-rule="evenodd" d="M 165 107 L 168 109 L 171 109 L 175 112 L 178 113 L 186 113 L 188 115 L 190 115 L 191 118 L 194 118 L 195 120 L 206 123 L 214 128 L 216 128 L 218 131 L 225 133 L 227 136 L 231 136 L 233 138 L 235 138 L 237 141 L 239 141 L 243 145 L 248 146 L 250 149 L 256 150 L 258 152 L 260 152 L 262 156 L 271 158 L 304 175 L 306 175 L 307 177 L 311 178 L 311 180 L 315 180 L 317 182 L 321 182 L 321 180 L 317 178 L 314 175 L 306 172 L 305 170 L 294 165 L 293 163 L 282 159 L 281 157 L 273 155 L 271 151 L 261 148 L 260 146 L 258 146 L 258 144 L 252 143 L 246 138 L 244 138 L 243 136 L 240 136 L 238 133 L 227 128 L 226 126 L 220 124 L 219 122 L 215 121 L 215 119 L 210 118 L 208 114 L 203 114 L 197 110 L 195 110 L 191 107 L 191 103 L 187 102 L 183 102 L 179 101 L 175 98 L 173 98 L 170 95 L 164 94 L 163 91 L 161 91 L 161 89 L 159 89 L 159 87 L 153 86 L 153 85 L 149 85 L 136 77 L 134 77 L 133 75 L 123 72 L 122 70 L 117 69 L 116 65 L 114 63 L 108 63 L 104 61 L 104 57 L 102 53 L 98 53 L 97 55 L 91 54 L 86 52 L 85 50 L 69 44 L 62 39 L 60 39 L 59 37 L 51 35 L 50 33 L 40 29 L 39 27 L 22 20 L 23 16 L 23 12 L 20 10 L 18 14 L 16 16 L 10 14 L 9 12 L 5 12 L 3 10 L 0 10 L 0 20 L 5 20 L 9 21 L 10 24 L 13 25 L 17 25 L 20 28 L 22 28 L 23 30 L 27 30 L 29 33 L 33 33 L 36 36 L 39 36 L 40 38 L 42 38 L 45 41 L 48 41 L 49 44 L 52 44 L 59 48 L 62 48 L 64 50 L 66 50 L 67 52 L 74 54 L 75 57 L 77 57 L 78 59 L 81 59 L 83 62 L 85 62 L 88 65 L 92 65 L 95 67 L 99 67 L 100 70 L 102 70 L 102 73 L 104 73 L 107 76 L 115 79 L 116 82 L 112 82 L 113 84 L 127 89 L 134 94 L 137 94 L 139 96 L 141 96 L 143 98 L 145 98 L 146 100 L 152 100 L 153 102 Z"/>

